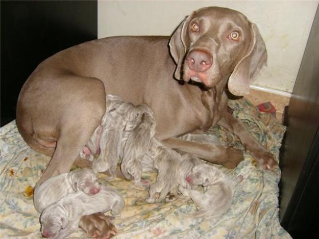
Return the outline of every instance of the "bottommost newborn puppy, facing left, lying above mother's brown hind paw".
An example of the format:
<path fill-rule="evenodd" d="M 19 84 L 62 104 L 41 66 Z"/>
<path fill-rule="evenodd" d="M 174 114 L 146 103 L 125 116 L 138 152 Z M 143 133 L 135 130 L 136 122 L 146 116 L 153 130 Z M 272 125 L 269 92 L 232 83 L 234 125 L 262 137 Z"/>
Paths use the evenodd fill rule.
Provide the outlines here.
<path fill-rule="evenodd" d="M 65 238 L 78 228 L 82 216 L 109 210 L 117 215 L 124 204 L 124 199 L 106 186 L 92 196 L 83 192 L 68 194 L 42 211 L 41 233 L 45 237 Z"/>

